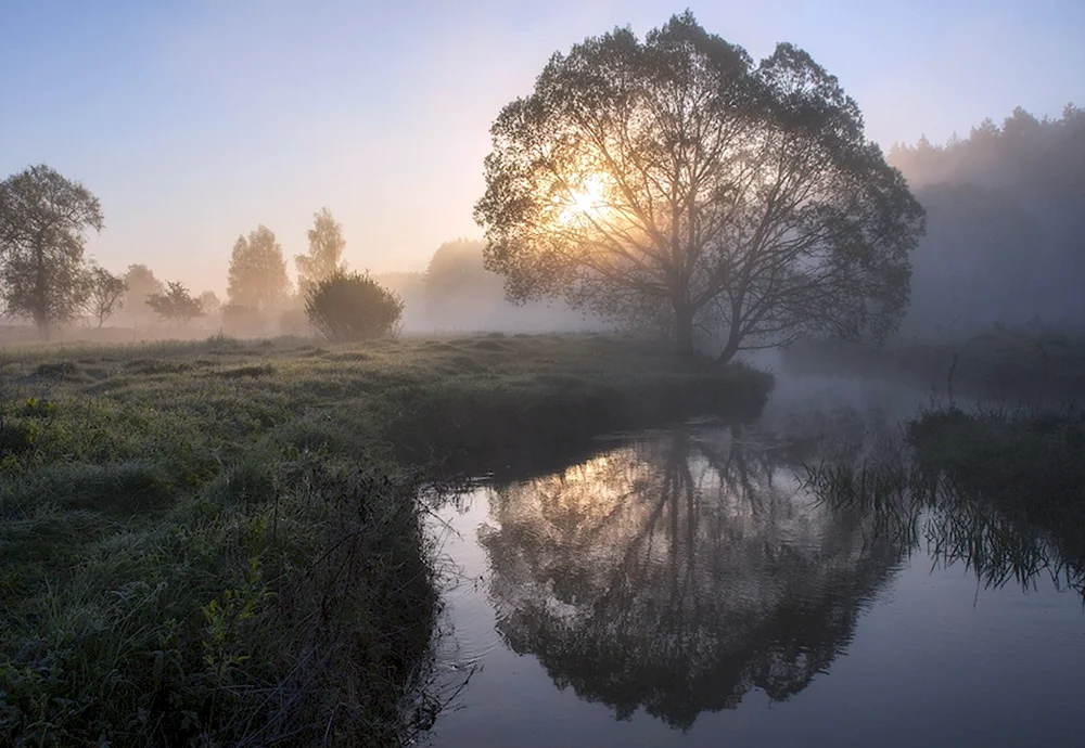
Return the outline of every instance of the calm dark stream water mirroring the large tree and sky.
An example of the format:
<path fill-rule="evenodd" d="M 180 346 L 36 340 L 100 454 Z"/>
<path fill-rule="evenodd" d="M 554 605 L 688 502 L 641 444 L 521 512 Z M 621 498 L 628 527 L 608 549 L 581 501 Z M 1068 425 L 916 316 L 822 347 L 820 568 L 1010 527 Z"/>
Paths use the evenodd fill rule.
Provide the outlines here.
<path fill-rule="evenodd" d="M 997 517 L 908 533 L 818 501 L 802 463 L 895 420 L 777 405 L 439 510 L 441 667 L 470 678 L 432 745 L 1085 746 L 1082 597 L 1043 538 L 1014 566 Z"/>

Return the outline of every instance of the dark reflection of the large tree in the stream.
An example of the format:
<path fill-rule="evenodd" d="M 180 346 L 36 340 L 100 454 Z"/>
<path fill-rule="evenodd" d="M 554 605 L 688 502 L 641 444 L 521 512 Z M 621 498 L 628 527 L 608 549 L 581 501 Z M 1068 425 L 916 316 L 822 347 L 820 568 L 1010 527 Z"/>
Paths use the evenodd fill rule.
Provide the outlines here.
<path fill-rule="evenodd" d="M 901 545 L 800 491 L 794 443 L 673 430 L 499 486 L 480 531 L 497 627 L 559 687 L 687 728 L 782 700 L 848 644 Z"/>

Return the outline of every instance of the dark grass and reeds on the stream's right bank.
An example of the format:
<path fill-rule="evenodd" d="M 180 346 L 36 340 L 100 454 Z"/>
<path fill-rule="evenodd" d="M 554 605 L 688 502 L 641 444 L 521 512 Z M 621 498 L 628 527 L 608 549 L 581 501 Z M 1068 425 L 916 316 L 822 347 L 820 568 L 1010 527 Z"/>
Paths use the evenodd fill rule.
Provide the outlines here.
<path fill-rule="evenodd" d="M 807 466 L 806 485 L 987 585 L 1029 586 L 1046 573 L 1085 597 L 1085 414 L 950 402 L 908 422 L 906 444 L 876 461 Z"/>

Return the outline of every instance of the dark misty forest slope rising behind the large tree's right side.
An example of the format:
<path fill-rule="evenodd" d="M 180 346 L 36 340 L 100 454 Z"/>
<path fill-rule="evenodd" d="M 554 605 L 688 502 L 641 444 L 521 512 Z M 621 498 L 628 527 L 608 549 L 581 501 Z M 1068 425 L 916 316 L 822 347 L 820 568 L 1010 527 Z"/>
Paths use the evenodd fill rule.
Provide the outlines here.
<path fill-rule="evenodd" d="M 902 334 L 1082 331 L 1085 111 L 1037 119 L 1018 107 L 963 139 L 896 145 L 889 160 L 927 210 Z"/>

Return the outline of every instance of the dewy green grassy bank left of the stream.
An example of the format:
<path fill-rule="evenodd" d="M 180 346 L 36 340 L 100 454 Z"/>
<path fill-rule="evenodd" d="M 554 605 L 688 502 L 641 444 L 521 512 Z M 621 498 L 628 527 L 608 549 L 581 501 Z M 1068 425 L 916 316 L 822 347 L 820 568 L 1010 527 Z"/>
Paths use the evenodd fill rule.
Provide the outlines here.
<path fill-rule="evenodd" d="M 0 743 L 393 744 L 422 482 L 769 387 L 601 336 L 8 351 Z"/>

